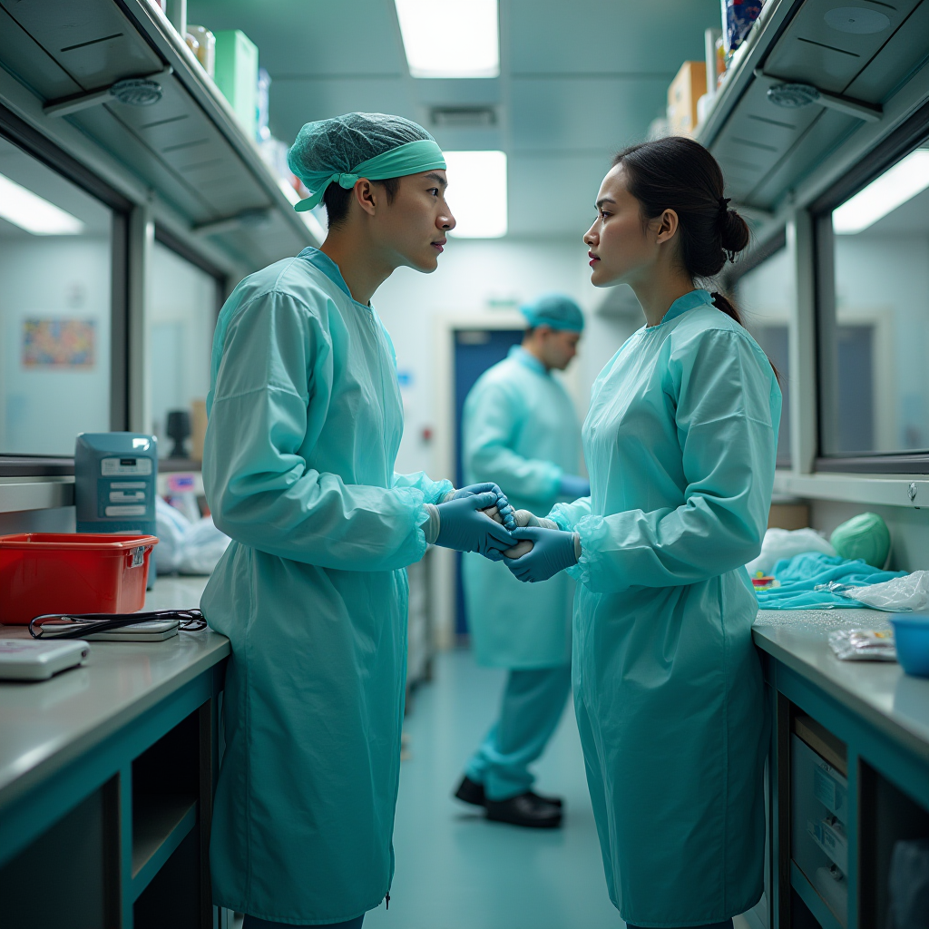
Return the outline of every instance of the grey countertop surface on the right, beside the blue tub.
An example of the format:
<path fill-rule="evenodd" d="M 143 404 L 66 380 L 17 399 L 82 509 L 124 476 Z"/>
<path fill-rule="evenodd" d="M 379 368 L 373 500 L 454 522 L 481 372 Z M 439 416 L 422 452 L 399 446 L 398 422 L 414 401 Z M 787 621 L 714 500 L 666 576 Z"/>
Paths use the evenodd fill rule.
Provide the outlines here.
<path fill-rule="evenodd" d="M 762 609 L 755 645 L 802 674 L 853 713 L 929 763 L 929 678 L 896 662 L 839 661 L 833 629 L 882 629 L 890 613 L 874 609 Z"/>

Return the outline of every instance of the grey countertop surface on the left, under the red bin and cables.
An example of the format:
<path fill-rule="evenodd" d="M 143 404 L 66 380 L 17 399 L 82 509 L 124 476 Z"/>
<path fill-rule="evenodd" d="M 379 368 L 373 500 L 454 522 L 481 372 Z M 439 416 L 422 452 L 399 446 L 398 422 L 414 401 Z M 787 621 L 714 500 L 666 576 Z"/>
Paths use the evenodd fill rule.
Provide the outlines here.
<path fill-rule="evenodd" d="M 164 578 L 147 609 L 195 607 L 206 578 Z M 0 638 L 28 638 L 0 625 Z M 0 809 L 229 655 L 209 629 L 164 642 L 94 642 L 81 668 L 47 681 L 0 681 Z"/>

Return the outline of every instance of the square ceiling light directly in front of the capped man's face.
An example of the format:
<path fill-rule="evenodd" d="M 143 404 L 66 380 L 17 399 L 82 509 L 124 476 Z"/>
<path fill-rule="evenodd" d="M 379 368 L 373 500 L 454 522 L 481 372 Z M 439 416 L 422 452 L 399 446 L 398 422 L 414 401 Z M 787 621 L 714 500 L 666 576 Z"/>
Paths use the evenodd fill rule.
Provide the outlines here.
<path fill-rule="evenodd" d="M 448 201 L 461 239 L 499 239 L 506 235 L 506 153 L 445 151 Z"/>

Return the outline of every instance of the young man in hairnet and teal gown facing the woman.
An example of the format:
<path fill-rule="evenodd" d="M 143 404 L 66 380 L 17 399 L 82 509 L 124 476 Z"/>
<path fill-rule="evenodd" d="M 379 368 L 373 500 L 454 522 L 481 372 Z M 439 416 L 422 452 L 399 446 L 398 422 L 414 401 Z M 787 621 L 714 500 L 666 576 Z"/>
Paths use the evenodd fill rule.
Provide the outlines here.
<path fill-rule="evenodd" d="M 309 123 L 289 164 L 329 232 L 249 275 L 216 325 L 203 483 L 232 542 L 203 594 L 229 636 L 214 902 L 244 929 L 357 929 L 388 895 L 406 677 L 404 567 L 512 546 L 491 484 L 397 475 L 393 347 L 371 297 L 454 227 L 445 161 L 379 113 Z M 388 897 L 389 899 L 389 897 Z"/>

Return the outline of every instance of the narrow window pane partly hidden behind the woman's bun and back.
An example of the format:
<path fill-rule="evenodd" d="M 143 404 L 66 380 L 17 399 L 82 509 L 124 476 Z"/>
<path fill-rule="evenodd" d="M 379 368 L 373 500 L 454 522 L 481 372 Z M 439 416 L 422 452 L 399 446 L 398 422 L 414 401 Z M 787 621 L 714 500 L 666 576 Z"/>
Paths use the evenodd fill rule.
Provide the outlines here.
<path fill-rule="evenodd" d="M 778 434 L 778 466 L 791 466 L 791 325 L 796 313 L 791 255 L 781 248 L 739 278 L 739 308 L 755 341 L 774 362 L 784 402 Z"/>

